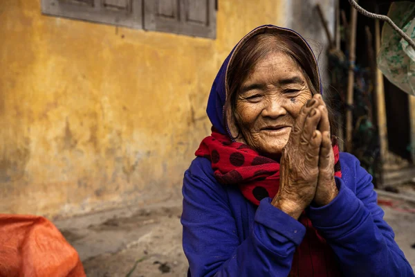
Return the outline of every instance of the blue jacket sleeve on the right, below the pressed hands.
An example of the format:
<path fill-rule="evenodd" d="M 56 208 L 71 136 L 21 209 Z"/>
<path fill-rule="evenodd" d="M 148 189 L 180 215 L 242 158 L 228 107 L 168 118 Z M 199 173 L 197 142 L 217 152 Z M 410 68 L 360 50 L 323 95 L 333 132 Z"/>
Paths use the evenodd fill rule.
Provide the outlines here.
<path fill-rule="evenodd" d="M 335 251 L 344 276 L 414 276 L 394 231 L 383 220 L 371 175 L 353 160 L 356 194 L 336 177 L 338 196 L 327 206 L 310 208 L 313 226 Z"/>

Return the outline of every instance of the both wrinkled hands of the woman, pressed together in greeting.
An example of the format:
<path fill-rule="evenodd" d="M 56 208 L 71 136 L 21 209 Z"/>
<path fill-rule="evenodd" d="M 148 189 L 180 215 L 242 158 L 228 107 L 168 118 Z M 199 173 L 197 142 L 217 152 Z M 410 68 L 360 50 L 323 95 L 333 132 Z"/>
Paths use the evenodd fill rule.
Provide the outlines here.
<path fill-rule="evenodd" d="M 299 112 L 282 151 L 279 191 L 274 206 L 298 219 L 312 204 L 325 206 L 337 195 L 329 114 L 320 94 Z"/>

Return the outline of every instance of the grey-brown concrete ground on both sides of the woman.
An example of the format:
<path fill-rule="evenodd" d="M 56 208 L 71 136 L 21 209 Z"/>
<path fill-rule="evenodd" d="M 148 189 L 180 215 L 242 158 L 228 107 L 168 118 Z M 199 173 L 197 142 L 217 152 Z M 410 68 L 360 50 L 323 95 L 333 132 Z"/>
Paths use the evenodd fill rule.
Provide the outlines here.
<path fill-rule="evenodd" d="M 414 198 L 415 199 L 415 198 Z M 415 269 L 415 204 L 380 197 L 385 220 Z M 89 277 L 184 277 L 181 199 L 55 222 L 80 254 Z"/>

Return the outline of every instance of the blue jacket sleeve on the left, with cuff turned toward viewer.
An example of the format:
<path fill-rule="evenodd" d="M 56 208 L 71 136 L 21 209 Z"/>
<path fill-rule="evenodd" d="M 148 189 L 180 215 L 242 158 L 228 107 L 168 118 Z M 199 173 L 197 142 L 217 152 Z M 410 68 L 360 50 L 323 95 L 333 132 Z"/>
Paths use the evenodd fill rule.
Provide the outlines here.
<path fill-rule="evenodd" d="M 241 241 L 224 188 L 187 171 L 181 223 L 190 276 L 288 276 L 306 230 L 270 201 L 262 199 Z"/>

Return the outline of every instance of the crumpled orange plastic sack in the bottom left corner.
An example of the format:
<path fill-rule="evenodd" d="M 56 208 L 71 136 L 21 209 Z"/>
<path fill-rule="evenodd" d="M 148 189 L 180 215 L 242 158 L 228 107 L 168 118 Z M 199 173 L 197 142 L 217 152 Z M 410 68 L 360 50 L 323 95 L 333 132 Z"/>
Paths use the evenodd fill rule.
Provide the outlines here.
<path fill-rule="evenodd" d="M 44 217 L 0 214 L 1 277 L 83 277 L 77 251 Z"/>

